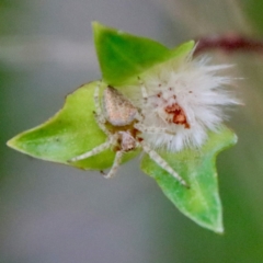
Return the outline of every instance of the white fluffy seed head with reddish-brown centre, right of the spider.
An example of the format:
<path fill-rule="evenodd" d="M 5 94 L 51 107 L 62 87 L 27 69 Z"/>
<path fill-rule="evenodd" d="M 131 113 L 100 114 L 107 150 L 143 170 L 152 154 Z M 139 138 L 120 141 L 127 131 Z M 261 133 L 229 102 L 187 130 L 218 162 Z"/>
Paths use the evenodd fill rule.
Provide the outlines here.
<path fill-rule="evenodd" d="M 228 89 L 232 78 L 218 71 L 228 65 L 210 66 L 208 59 L 170 60 L 156 66 L 140 81 L 141 87 L 123 89 L 124 94 L 145 116 L 146 127 L 167 128 L 172 133 L 142 133 L 144 139 L 153 148 L 179 151 L 185 147 L 201 147 L 208 130 L 217 130 L 226 119 L 226 106 L 240 104 Z"/>

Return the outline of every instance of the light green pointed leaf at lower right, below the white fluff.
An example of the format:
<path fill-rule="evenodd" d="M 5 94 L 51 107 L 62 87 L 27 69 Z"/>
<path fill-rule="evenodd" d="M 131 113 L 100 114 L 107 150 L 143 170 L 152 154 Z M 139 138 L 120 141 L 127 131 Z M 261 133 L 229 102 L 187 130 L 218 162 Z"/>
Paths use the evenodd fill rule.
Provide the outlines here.
<path fill-rule="evenodd" d="M 186 149 L 176 153 L 159 152 L 188 183 L 190 188 L 182 186 L 148 156 L 144 157 L 141 169 L 157 181 L 168 198 L 184 215 L 198 225 L 220 233 L 224 228 L 215 164 L 216 156 L 236 142 L 236 135 L 222 127 L 219 133 L 210 133 L 207 142 L 199 150 Z"/>

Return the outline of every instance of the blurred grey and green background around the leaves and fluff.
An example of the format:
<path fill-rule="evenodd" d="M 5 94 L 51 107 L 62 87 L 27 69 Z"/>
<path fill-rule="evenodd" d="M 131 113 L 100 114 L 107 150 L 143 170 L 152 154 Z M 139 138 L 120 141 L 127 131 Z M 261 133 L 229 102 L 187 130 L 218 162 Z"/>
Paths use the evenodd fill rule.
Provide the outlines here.
<path fill-rule="evenodd" d="M 263 1 L 0 0 L 0 262 L 262 263 L 261 54 L 210 53 L 236 65 L 245 103 L 229 123 L 239 144 L 217 161 L 224 236 L 182 216 L 138 160 L 104 180 L 5 146 L 53 116 L 66 94 L 100 78 L 93 20 L 169 47 L 222 33 L 260 38 Z"/>

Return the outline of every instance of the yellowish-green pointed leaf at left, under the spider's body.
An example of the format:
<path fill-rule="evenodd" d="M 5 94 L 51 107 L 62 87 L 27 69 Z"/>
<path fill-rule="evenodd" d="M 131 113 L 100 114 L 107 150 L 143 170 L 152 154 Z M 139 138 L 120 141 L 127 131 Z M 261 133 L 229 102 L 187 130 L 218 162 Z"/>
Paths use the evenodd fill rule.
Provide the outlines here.
<path fill-rule="evenodd" d="M 102 170 L 111 167 L 115 157 L 112 150 L 78 162 L 68 162 L 106 140 L 93 116 L 93 93 L 98 83 L 85 84 L 69 94 L 62 110 L 54 117 L 15 136 L 8 141 L 8 146 L 35 158 L 82 169 Z M 124 161 L 135 155 L 136 152 L 127 153 Z"/>

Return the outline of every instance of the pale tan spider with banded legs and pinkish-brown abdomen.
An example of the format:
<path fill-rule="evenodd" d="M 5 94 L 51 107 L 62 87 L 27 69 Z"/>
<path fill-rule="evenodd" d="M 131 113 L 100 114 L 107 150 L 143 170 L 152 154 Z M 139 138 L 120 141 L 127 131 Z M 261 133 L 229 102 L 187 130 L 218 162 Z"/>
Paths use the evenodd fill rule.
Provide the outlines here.
<path fill-rule="evenodd" d="M 182 185 L 187 187 L 185 181 L 170 167 L 170 164 L 140 137 L 140 134 L 144 132 L 169 133 L 169 130 L 165 128 L 157 129 L 155 127 L 144 126 L 141 124 L 144 116 L 139 113 L 138 108 L 136 108 L 118 90 L 111 85 L 105 88 L 102 100 L 100 100 L 100 87 L 101 84 L 98 84 L 94 91 L 94 117 L 99 127 L 107 136 L 107 140 L 88 152 L 73 157 L 69 161 L 80 161 L 112 148 L 116 151 L 116 155 L 110 172 L 104 175 L 104 178 L 108 179 L 116 174 L 124 153 L 141 148 L 149 155 L 150 159 L 173 175 Z M 146 99 L 144 88 L 141 88 L 141 92 L 144 99 Z M 108 125 L 112 126 L 112 130 L 108 129 Z"/>

